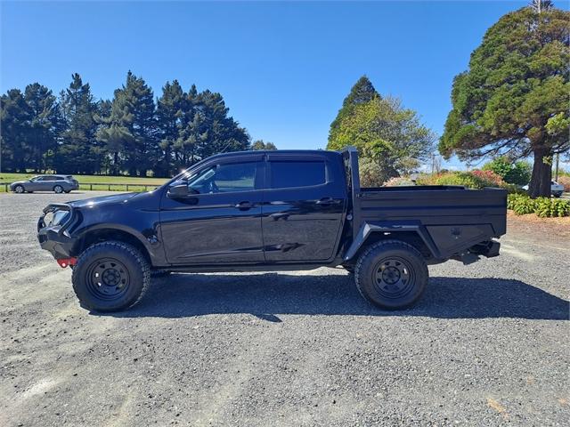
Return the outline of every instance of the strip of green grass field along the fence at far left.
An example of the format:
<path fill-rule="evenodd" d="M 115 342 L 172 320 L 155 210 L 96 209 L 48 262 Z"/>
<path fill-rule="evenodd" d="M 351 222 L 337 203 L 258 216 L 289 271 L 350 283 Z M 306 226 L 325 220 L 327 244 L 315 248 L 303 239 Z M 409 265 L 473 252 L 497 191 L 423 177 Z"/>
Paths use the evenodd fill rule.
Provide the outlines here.
<path fill-rule="evenodd" d="M 5 191 L 4 182 L 24 181 L 37 173 L 0 173 L 0 192 Z M 167 178 L 139 178 L 135 176 L 106 176 L 106 175 L 73 175 L 79 181 L 79 189 L 98 189 L 111 191 L 126 191 L 126 184 L 129 184 L 128 191 L 144 191 L 144 187 L 132 187 L 130 184 L 148 185 L 158 187 L 165 183 Z M 107 184 L 107 185 L 105 185 Z M 112 184 L 109 186 L 109 184 Z"/>

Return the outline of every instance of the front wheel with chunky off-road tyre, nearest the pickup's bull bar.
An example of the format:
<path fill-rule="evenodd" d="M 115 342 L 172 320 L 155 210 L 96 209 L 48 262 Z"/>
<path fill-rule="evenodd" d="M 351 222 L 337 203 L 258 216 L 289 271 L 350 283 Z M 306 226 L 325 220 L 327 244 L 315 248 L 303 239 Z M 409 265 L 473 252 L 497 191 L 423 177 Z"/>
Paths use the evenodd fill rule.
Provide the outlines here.
<path fill-rule="evenodd" d="M 141 301 L 151 270 L 134 246 L 110 241 L 85 249 L 77 258 L 71 280 L 83 308 L 118 311 Z"/>

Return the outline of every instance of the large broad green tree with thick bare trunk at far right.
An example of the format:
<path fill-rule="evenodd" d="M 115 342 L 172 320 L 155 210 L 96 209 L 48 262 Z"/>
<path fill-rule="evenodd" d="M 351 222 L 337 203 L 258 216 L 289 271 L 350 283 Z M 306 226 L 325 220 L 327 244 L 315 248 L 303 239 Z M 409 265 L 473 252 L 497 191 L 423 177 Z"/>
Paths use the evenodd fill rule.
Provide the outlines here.
<path fill-rule="evenodd" d="M 536 3 L 536 2 L 535 2 Z M 444 157 L 533 155 L 529 193 L 550 196 L 551 158 L 570 149 L 570 12 L 525 7 L 503 16 L 455 77 Z"/>

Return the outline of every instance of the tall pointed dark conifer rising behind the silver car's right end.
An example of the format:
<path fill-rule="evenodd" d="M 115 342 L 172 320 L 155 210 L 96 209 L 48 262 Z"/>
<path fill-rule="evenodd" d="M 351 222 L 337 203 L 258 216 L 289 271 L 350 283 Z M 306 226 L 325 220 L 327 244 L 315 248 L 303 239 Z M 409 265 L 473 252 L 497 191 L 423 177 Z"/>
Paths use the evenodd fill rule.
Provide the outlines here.
<path fill-rule="evenodd" d="M 88 83 L 77 73 L 69 88 L 61 93 L 61 116 L 64 130 L 55 159 L 59 173 L 95 173 L 101 168 L 101 154 L 95 139 L 97 104 Z"/>

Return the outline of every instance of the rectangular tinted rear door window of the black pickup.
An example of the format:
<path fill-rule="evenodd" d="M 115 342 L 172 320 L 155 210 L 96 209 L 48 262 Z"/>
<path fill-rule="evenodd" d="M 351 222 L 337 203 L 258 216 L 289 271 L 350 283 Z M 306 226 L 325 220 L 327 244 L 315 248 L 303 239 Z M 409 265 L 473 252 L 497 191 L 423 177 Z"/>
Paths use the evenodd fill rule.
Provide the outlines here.
<path fill-rule="evenodd" d="M 322 161 L 315 162 L 271 162 L 272 189 L 289 187 L 310 187 L 326 182 L 325 165 Z"/>

